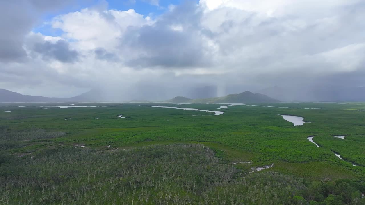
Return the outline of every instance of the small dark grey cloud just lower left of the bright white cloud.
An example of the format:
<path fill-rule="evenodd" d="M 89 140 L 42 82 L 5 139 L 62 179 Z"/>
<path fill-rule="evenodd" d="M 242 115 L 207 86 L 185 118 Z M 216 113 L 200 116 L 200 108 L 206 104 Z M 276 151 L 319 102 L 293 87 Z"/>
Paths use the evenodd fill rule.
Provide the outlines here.
<path fill-rule="evenodd" d="M 57 40 L 55 43 L 43 41 L 36 43 L 33 49 L 44 59 L 56 59 L 65 63 L 75 62 L 79 56 L 77 51 L 70 49 L 69 43 L 65 40 Z"/>

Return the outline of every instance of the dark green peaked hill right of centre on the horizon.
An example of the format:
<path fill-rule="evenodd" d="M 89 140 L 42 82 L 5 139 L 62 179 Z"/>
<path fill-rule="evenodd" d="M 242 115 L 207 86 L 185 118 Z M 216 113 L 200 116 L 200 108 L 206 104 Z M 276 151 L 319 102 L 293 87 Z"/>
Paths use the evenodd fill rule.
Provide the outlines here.
<path fill-rule="evenodd" d="M 212 97 L 205 99 L 196 99 L 191 102 L 280 102 L 274 98 L 260 93 L 251 93 L 246 91 L 239 94 L 229 94 L 223 97 Z"/>

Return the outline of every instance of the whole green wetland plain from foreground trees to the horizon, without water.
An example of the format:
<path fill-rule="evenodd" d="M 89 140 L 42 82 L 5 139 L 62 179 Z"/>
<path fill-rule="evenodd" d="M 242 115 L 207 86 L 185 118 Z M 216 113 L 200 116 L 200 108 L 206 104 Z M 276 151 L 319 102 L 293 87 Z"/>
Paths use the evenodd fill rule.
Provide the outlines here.
<path fill-rule="evenodd" d="M 365 204 L 365 103 L 68 104 L 0 107 L 0 204 Z"/>

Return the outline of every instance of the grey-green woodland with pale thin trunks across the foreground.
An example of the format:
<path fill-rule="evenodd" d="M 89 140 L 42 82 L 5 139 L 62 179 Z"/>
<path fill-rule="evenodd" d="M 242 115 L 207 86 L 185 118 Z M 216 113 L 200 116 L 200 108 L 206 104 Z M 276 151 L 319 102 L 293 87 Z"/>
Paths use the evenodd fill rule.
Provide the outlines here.
<path fill-rule="evenodd" d="M 6 162 L 4 162 L 6 163 Z M 199 144 L 96 151 L 61 148 L 1 166 L 0 204 L 361 204 L 365 184 L 241 177 Z"/>

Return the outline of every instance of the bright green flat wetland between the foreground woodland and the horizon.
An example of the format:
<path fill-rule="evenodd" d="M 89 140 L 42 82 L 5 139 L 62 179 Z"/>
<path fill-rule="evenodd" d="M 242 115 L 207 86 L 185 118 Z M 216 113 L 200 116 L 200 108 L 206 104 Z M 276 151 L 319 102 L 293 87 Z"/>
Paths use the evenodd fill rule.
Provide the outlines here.
<path fill-rule="evenodd" d="M 1 156 L 4 158 L 2 163 L 0 161 L 0 167 L 1 174 L 4 177 L 17 176 L 16 178 L 18 178 L 19 174 L 22 175 L 22 173 L 14 173 L 14 170 L 12 171 L 14 167 L 28 161 L 32 162 L 31 157 L 36 158 L 36 161 L 45 156 L 46 153 L 57 154 L 59 152 L 61 155 L 64 154 L 65 150 L 85 150 L 85 152 L 93 150 L 92 153 L 101 151 L 113 154 L 114 152 L 119 153 L 120 150 L 135 150 L 138 147 L 146 146 L 157 146 L 160 147 L 158 150 L 163 150 L 168 144 L 180 144 L 178 149 L 181 150 L 182 144 L 203 144 L 215 153 L 215 156 L 220 160 L 219 163 L 225 164 L 226 168 L 224 169 L 234 169 L 228 178 L 235 178 L 234 176 L 237 174 L 243 174 L 244 178 L 248 177 L 247 180 L 249 178 L 251 180 L 251 177 L 249 177 L 251 174 L 246 173 L 250 172 L 252 167 L 274 164 L 272 168 L 261 171 L 261 174 L 269 172 L 266 175 L 268 177 L 273 174 L 271 173 L 272 171 L 275 171 L 285 174 L 283 176 L 286 177 L 301 178 L 311 183 L 320 182 L 323 183 L 323 186 L 328 181 L 334 181 L 335 183 L 338 180 L 350 180 L 346 181 L 346 183 L 352 187 L 359 186 L 357 190 L 365 192 L 365 112 L 361 112 L 365 110 L 365 104 L 363 103 L 251 104 L 288 108 L 232 106 L 228 107 L 228 111 L 225 111 L 224 115 L 218 116 L 214 116 L 214 113 L 203 111 L 138 107 L 135 105 L 169 105 L 218 111 L 217 109 L 220 106 L 227 104 L 172 105 L 161 103 L 124 103 L 124 105 L 120 105 L 121 103 L 33 103 L 32 105 L 67 106 L 68 104 L 77 104 L 75 106 L 115 105 L 118 107 L 50 109 L 42 109 L 43 107 L 0 107 L 0 148 Z M 305 123 L 303 126 L 293 126 L 292 123 L 285 121 L 279 114 L 301 116 L 304 117 L 304 121 L 311 123 Z M 116 117 L 117 115 L 123 115 L 126 118 L 121 119 Z M 320 148 L 317 148 L 307 140 L 307 137 L 310 135 L 315 135 L 314 141 L 320 145 Z M 345 135 L 346 137 L 345 139 L 338 139 L 333 137 L 333 135 Z M 84 145 L 85 147 L 72 148 L 76 145 Z M 161 146 L 165 148 L 161 148 Z M 340 160 L 334 155 L 334 152 L 341 154 L 346 160 Z M 72 153 L 74 152 L 72 151 Z M 203 152 L 199 153 L 202 154 Z M 92 154 L 92 156 L 94 155 Z M 108 157 L 110 156 L 108 155 Z M 199 158 L 199 156 L 196 157 Z M 12 161 L 16 162 L 16 165 L 11 165 L 10 162 Z M 232 163 L 249 161 L 251 163 L 231 165 Z M 359 166 L 352 166 L 351 162 Z M 80 163 L 90 164 L 91 162 L 81 160 Z M 126 165 L 133 166 L 133 163 L 128 162 Z M 188 169 L 188 167 L 185 168 Z M 97 169 L 102 168 L 99 167 Z M 50 173 L 45 174 L 44 177 L 47 175 L 50 175 Z M 107 177 L 107 175 L 104 177 Z M 189 176 L 185 178 L 189 178 Z M 205 191 L 208 190 L 207 192 L 214 193 L 227 187 L 230 187 L 227 189 L 231 189 L 231 187 L 236 186 L 234 185 L 235 183 L 239 182 L 227 182 L 224 186 L 222 185 L 225 188 L 215 185 L 209 187 L 209 189 L 207 188 Z M 338 185 L 340 183 L 342 182 L 338 182 Z M 312 200 L 312 197 L 302 193 L 302 191 L 305 192 L 304 190 L 306 190 L 307 186 L 309 187 L 308 184 L 304 183 L 303 186 L 298 185 L 298 187 L 302 188 L 297 189 L 297 195 L 304 197 L 305 203 L 309 203 Z M 132 190 L 133 187 L 130 187 L 130 189 Z M 173 189 L 177 190 L 176 187 Z M 216 190 L 210 192 L 209 190 L 211 189 Z M 4 190 L 2 189 L 3 194 L 19 191 L 15 189 Z M 106 190 L 109 189 L 100 190 L 100 193 Z M 126 192 L 129 193 L 131 190 L 128 190 Z M 355 192 L 354 190 L 351 191 L 351 193 Z M 180 190 L 176 193 L 184 193 L 184 191 Z M 41 194 L 41 192 L 38 194 Z M 223 193 L 216 193 L 217 196 L 220 194 Z M 237 193 L 236 195 L 239 196 L 239 194 L 244 196 L 249 193 Z M 335 194 L 335 191 L 333 194 Z M 205 193 L 205 195 L 208 196 L 209 194 Z M 316 199 L 314 202 L 322 203 L 326 198 L 330 197 L 330 193 L 323 193 L 322 195 L 324 198 Z M 212 195 L 209 196 L 214 198 Z M 87 198 L 87 195 L 85 197 Z M 99 197 L 103 198 L 103 195 L 101 194 Z M 117 195 L 111 195 L 110 197 L 109 200 L 116 200 L 115 204 L 121 204 Z M 293 198 L 295 194 L 282 197 L 291 197 L 287 204 L 295 204 L 301 201 L 298 197 L 296 199 Z M 331 197 L 334 197 L 335 201 L 342 201 L 343 204 L 350 204 L 354 201 L 351 197 L 345 197 L 341 200 L 335 198 L 335 195 Z M 3 197 L 3 199 L 5 198 Z M 106 198 L 107 196 L 104 196 L 104 200 Z M 201 198 L 204 198 L 203 195 L 200 198 L 191 200 L 198 203 L 199 201 L 204 201 Z M 236 197 L 235 200 L 232 199 L 230 201 L 227 197 L 224 201 L 227 204 L 239 204 L 238 198 Z M 257 198 L 258 201 L 259 198 L 261 199 L 262 196 Z M 328 198 L 328 200 L 331 199 Z M 8 200 L 11 201 L 11 197 Z M 12 203 L 16 204 L 16 201 L 21 199 L 13 198 L 12 200 Z M 242 202 L 243 204 L 259 204 L 258 201 L 254 203 L 247 200 L 242 199 L 241 201 L 245 202 Z M 217 203 L 220 201 L 223 201 L 223 199 L 216 199 Z M 42 204 L 42 202 L 43 204 L 51 203 L 50 201 L 38 200 L 37 204 Z M 158 204 L 158 201 L 147 200 L 147 202 L 145 204 Z M 270 204 L 268 201 L 261 202 L 262 204 Z M 60 200 L 55 200 L 54 204 L 61 203 Z M 181 204 L 184 203 L 181 202 Z"/>

